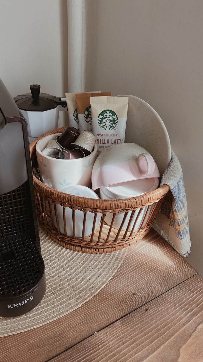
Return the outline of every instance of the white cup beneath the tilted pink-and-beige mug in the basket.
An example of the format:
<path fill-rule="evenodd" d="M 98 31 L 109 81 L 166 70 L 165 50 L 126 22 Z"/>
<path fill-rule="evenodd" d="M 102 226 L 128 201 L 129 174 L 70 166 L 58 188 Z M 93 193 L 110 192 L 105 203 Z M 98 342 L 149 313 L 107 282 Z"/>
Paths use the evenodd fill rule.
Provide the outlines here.
<path fill-rule="evenodd" d="M 143 195 L 147 192 L 156 190 L 158 187 L 159 187 L 159 179 L 157 177 L 153 177 L 153 178 L 144 178 L 142 180 L 133 180 L 133 181 L 129 181 L 129 182 L 123 182 L 122 184 L 108 186 L 108 187 L 101 187 L 99 189 L 99 193 L 100 193 L 101 199 L 124 199 L 124 198 L 135 197 L 138 195 Z M 150 212 L 148 213 L 146 222 L 148 220 L 148 217 L 151 214 L 153 207 L 154 207 L 154 204 L 150 208 Z M 129 231 L 131 231 L 134 226 L 134 222 L 135 222 L 135 219 L 137 218 L 139 210 L 140 209 L 137 209 L 134 212 L 133 218 L 131 220 L 131 223 L 130 223 L 130 226 L 128 229 Z M 142 209 L 141 213 L 139 214 L 139 217 L 136 221 L 136 224 L 134 226 L 134 230 L 139 229 L 146 212 L 147 212 L 147 207 L 143 207 L 143 209 Z M 125 222 L 122 226 L 122 230 L 126 230 L 129 220 L 130 220 L 131 213 L 132 213 L 132 211 L 128 212 L 128 216 L 126 216 Z M 124 212 L 118 212 L 118 214 L 116 214 L 116 217 L 113 222 L 113 227 L 115 229 L 120 228 L 122 220 L 124 218 L 124 214 L 125 214 Z M 112 218 L 113 218 L 113 213 L 109 212 L 105 216 L 105 222 L 108 225 L 111 225 Z"/>

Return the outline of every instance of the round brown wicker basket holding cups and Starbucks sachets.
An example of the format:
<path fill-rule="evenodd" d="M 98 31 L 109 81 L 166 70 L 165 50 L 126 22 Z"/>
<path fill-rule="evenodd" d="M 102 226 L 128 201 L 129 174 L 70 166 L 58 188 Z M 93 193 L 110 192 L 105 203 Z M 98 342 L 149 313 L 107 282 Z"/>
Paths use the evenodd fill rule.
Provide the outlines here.
<path fill-rule="evenodd" d="M 36 165 L 37 162 L 35 147 L 38 140 L 47 135 L 63 132 L 64 130 L 65 128 L 60 128 L 51 132 L 47 132 L 46 134 L 38 137 L 33 143 L 31 143 L 30 152 L 33 165 Z M 33 180 L 39 223 L 41 224 L 43 229 L 53 240 L 57 241 L 57 243 L 61 244 L 65 248 L 85 253 L 113 252 L 128 247 L 129 245 L 132 245 L 136 243 L 136 241 L 142 239 L 142 237 L 147 234 L 152 224 L 154 223 L 156 215 L 160 210 L 161 203 L 163 202 L 165 195 L 169 191 L 169 186 L 163 185 L 155 191 L 128 199 L 90 199 L 65 194 L 61 191 L 52 189 L 49 186 L 44 185 L 43 182 L 39 181 L 34 175 Z M 60 232 L 56 207 L 57 204 L 60 204 L 63 207 L 65 235 Z M 72 237 L 68 236 L 66 233 L 66 207 L 72 209 Z M 137 209 L 139 209 L 139 211 L 134 221 L 134 226 L 136 225 L 137 219 L 143 212 L 144 217 L 142 223 L 139 225 L 138 230 L 134 230 L 133 226 L 131 227 L 131 231 L 128 231 L 135 210 Z M 75 210 L 81 210 L 84 213 L 83 233 L 81 238 L 75 237 Z M 87 212 L 94 213 L 92 233 L 89 236 L 85 236 L 84 234 Z M 105 223 L 105 215 L 109 212 L 113 213 L 113 218 L 110 226 Z M 117 230 L 113 228 L 112 225 L 118 212 L 123 212 L 124 216 L 122 218 L 120 228 Z M 125 222 L 128 212 L 131 212 L 129 223 L 126 231 L 123 231 L 122 226 Z M 98 213 L 102 214 L 102 218 L 98 229 L 95 230 L 96 217 Z M 57 227 L 54 226 L 55 218 Z"/>

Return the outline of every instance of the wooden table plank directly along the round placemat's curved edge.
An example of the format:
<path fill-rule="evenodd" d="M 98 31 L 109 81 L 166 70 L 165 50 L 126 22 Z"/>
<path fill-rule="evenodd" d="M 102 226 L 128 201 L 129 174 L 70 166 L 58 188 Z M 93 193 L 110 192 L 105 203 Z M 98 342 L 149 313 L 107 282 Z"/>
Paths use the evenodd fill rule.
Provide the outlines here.
<path fill-rule="evenodd" d="M 42 327 L 0 338 L 1 358 L 47 361 L 195 274 L 152 230 L 129 248 L 115 276 L 83 306 Z"/>

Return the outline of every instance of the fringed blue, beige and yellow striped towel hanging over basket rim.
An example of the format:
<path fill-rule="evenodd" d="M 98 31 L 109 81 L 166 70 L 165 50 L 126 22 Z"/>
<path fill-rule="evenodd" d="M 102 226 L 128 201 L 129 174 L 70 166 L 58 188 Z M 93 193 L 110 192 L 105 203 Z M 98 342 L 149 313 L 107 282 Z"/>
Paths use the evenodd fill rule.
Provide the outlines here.
<path fill-rule="evenodd" d="M 181 165 L 173 151 L 169 166 L 161 179 L 161 185 L 164 184 L 170 187 L 170 191 L 161 205 L 155 227 L 179 254 L 187 256 L 191 245 L 187 200 Z"/>

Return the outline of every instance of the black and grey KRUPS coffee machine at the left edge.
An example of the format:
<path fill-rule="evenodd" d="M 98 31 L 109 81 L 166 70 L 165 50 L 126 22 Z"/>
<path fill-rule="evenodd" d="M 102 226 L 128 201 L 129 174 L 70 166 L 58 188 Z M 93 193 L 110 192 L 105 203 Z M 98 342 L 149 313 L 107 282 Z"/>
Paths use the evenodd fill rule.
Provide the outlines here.
<path fill-rule="evenodd" d="M 0 316 L 29 312 L 45 291 L 27 122 L 0 79 Z"/>

